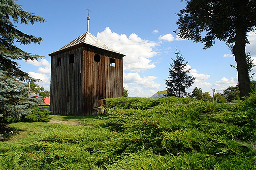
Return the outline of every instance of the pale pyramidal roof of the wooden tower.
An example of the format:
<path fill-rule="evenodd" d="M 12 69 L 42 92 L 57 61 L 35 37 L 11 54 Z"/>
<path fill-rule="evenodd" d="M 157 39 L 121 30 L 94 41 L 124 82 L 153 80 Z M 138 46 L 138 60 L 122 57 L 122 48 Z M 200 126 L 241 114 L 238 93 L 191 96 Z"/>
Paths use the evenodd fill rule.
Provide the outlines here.
<path fill-rule="evenodd" d="M 122 54 L 121 52 L 118 52 L 114 49 L 112 49 L 111 47 L 109 47 L 108 45 L 106 45 L 105 43 L 103 43 L 102 41 L 100 41 L 98 38 L 96 38 L 93 34 L 91 34 L 89 31 L 87 31 L 86 33 L 84 33 L 83 35 L 79 36 L 78 38 L 76 38 L 75 40 L 71 41 L 70 43 L 68 43 L 67 45 L 65 45 L 63 48 L 57 50 L 57 51 L 54 51 L 52 53 L 55 53 L 55 52 L 58 52 L 58 51 L 61 51 L 63 49 L 67 49 L 69 47 L 72 47 L 72 46 L 75 46 L 75 45 L 78 45 L 80 43 L 85 43 L 85 44 L 88 44 L 88 45 L 91 45 L 91 46 L 94 46 L 94 47 L 97 47 L 99 49 L 105 49 L 105 50 L 108 50 L 108 51 L 112 51 L 112 52 L 115 52 L 115 53 L 118 53 L 118 54 Z M 50 54 L 52 54 L 50 53 Z M 124 54 L 122 54 L 124 55 Z"/>

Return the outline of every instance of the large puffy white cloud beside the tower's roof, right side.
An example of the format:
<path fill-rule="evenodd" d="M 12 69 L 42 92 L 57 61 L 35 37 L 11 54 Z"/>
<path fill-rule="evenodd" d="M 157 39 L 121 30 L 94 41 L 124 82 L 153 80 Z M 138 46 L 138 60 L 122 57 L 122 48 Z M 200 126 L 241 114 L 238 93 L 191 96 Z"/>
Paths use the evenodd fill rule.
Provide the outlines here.
<path fill-rule="evenodd" d="M 123 58 L 125 71 L 138 72 L 156 67 L 154 63 L 150 63 L 149 59 L 157 54 L 152 49 L 158 45 L 155 42 L 143 40 L 134 33 L 129 37 L 125 34 L 119 35 L 112 32 L 109 27 L 98 32 L 97 38 L 126 55 Z"/>

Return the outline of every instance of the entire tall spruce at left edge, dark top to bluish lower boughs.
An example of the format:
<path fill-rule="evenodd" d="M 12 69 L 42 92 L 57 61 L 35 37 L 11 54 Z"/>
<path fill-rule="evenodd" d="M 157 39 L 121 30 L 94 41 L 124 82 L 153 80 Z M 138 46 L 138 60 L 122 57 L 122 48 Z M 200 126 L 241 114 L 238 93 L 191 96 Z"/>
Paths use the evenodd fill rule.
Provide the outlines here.
<path fill-rule="evenodd" d="M 15 60 L 37 60 L 39 55 L 15 46 L 15 43 L 29 45 L 40 44 L 42 37 L 34 37 L 18 30 L 15 24 L 34 24 L 45 22 L 43 17 L 24 11 L 15 0 L 0 0 L 0 118 L 16 120 L 31 112 L 35 104 L 28 97 L 28 88 L 21 81 L 32 79 L 28 73 L 20 70 Z M 34 79 L 33 79 L 34 80 Z"/>

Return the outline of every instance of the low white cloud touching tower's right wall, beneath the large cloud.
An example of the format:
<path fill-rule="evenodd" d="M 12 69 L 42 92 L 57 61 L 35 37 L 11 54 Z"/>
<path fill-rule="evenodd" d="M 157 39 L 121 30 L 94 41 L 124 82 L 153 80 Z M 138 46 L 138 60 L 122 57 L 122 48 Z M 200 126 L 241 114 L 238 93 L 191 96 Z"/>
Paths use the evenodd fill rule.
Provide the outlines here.
<path fill-rule="evenodd" d="M 140 77 L 138 73 L 124 73 L 124 83 L 137 85 L 143 89 L 159 89 L 159 83 L 154 82 L 156 76 Z"/>

